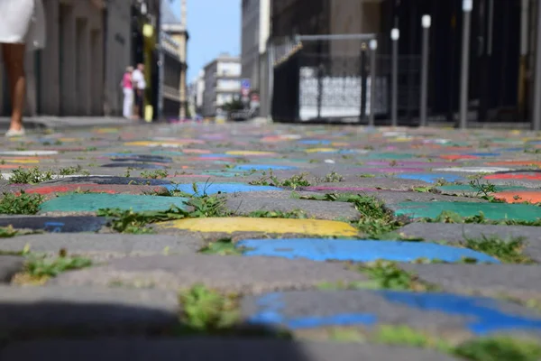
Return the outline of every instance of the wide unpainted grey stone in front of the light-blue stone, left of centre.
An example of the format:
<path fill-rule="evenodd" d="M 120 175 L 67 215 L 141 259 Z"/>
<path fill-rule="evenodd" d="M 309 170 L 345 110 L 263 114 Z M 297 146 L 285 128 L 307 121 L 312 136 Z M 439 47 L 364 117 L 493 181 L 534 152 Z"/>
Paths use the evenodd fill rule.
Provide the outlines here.
<path fill-rule="evenodd" d="M 188 288 L 196 283 L 237 292 L 307 289 L 321 282 L 366 280 L 342 264 L 304 259 L 221 255 L 129 257 L 109 264 L 60 274 L 59 285 L 137 284 L 160 289 Z"/>

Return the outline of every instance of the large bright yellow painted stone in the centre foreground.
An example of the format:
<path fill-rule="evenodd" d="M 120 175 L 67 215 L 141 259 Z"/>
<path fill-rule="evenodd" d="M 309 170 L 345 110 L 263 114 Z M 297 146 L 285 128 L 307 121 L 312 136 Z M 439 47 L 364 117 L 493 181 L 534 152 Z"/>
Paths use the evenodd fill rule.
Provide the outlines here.
<path fill-rule="evenodd" d="M 310 236 L 357 236 L 355 227 L 335 220 L 283 218 L 189 218 L 157 224 L 193 232 L 297 233 Z"/>

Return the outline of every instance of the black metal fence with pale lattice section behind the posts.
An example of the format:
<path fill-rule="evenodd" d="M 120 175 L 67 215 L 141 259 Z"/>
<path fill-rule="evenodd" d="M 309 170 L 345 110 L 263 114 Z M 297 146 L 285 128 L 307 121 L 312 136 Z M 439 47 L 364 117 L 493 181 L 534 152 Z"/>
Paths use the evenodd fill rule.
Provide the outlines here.
<path fill-rule="evenodd" d="M 333 55 L 300 49 L 274 67 L 272 118 L 277 122 L 367 123 L 371 109 L 368 50 L 358 55 Z M 419 56 L 399 58 L 399 117 L 416 122 L 419 112 Z M 374 116 L 390 119 L 391 58 L 376 54 Z"/>

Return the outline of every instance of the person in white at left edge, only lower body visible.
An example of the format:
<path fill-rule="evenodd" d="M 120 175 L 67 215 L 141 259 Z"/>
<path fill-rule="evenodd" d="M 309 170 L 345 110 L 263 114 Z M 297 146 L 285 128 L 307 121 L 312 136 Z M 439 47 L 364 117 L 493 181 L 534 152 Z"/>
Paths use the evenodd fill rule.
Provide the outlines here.
<path fill-rule="evenodd" d="M 23 136 L 24 56 L 45 46 L 41 0 L 0 0 L 0 45 L 12 99 L 11 125 L 5 136 Z"/>

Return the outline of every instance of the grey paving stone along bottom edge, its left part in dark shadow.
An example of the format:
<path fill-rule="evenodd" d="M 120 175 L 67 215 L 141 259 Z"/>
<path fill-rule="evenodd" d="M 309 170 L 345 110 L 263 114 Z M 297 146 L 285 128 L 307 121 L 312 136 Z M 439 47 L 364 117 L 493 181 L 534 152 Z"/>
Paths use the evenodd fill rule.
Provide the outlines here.
<path fill-rule="evenodd" d="M 3 361 L 453 361 L 454 357 L 407 347 L 256 338 L 48 339 L 14 343 L 0 350 Z"/>

